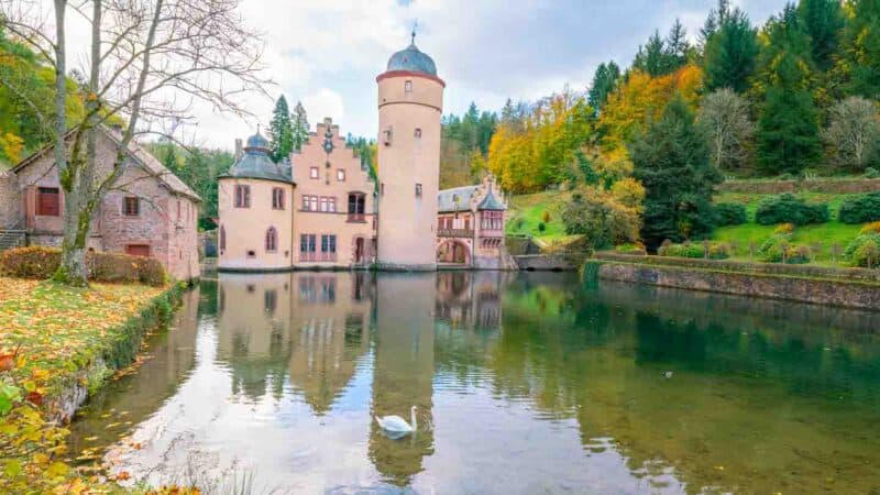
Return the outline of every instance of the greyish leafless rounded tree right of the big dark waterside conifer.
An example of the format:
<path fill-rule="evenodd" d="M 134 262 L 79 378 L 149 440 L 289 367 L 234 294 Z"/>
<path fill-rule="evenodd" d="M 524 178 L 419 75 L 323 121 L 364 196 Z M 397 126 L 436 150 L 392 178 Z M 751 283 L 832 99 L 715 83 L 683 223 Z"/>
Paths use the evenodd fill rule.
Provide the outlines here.
<path fill-rule="evenodd" d="M 708 139 L 712 165 L 724 170 L 741 168 L 752 134 L 746 99 L 729 88 L 706 95 L 697 122 Z"/>

